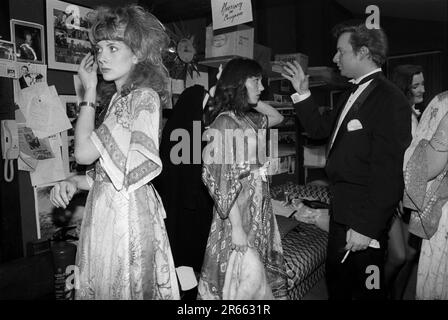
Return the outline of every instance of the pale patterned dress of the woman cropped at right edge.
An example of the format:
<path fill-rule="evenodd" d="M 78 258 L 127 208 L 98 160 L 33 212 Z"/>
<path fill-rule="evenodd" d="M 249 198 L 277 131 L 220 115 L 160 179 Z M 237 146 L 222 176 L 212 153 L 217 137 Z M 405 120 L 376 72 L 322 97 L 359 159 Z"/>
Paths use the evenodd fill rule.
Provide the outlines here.
<path fill-rule="evenodd" d="M 426 159 L 422 159 L 426 155 L 422 148 L 431 139 L 447 112 L 448 91 L 436 96 L 425 109 L 415 137 L 405 154 L 404 204 L 409 200 L 420 207 L 421 214 L 435 215 L 427 217 L 429 222 L 433 221 L 430 224 L 433 229 L 429 230 L 432 236 L 429 240 L 423 239 L 420 252 L 416 290 L 416 298 L 420 300 L 448 300 L 448 202 L 446 194 L 443 195 L 446 193 L 447 181 L 442 174 L 426 182 L 427 163 Z M 434 185 L 437 184 L 441 185 L 434 192 Z M 445 199 L 441 200 L 443 197 Z M 428 203 L 431 207 L 431 202 L 435 208 L 425 212 Z M 422 223 L 421 218 L 414 212 L 411 215 L 410 232 L 413 232 L 412 225 L 419 223 Z"/>

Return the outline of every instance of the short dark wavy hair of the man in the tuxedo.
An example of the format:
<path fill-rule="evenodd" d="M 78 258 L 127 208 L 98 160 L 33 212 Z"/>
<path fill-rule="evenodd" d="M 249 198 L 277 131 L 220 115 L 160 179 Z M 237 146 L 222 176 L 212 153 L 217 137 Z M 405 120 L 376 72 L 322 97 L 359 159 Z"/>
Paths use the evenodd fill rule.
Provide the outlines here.
<path fill-rule="evenodd" d="M 338 24 L 332 30 L 336 39 L 346 32 L 350 33 L 349 41 L 353 52 L 358 53 L 361 47 L 366 47 L 369 49 L 370 58 L 378 67 L 384 64 L 389 46 L 383 29 L 368 29 L 365 22 L 356 20 Z"/>

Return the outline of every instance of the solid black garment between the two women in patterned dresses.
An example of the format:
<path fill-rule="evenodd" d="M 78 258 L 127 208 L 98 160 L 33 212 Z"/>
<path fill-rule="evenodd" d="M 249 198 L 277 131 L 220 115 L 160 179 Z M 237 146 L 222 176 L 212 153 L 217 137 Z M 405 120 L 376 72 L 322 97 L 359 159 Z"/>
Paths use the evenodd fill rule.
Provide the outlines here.
<path fill-rule="evenodd" d="M 196 133 L 194 130 L 197 129 L 193 126 L 193 121 L 202 121 L 205 93 L 204 87 L 195 85 L 185 89 L 179 96 L 162 131 L 159 153 L 163 169 L 152 181 L 166 211 L 165 224 L 174 264 L 176 267 L 191 266 L 196 272 L 201 271 L 213 217 L 213 199 L 202 182 L 202 157 L 199 154 L 199 163 L 194 163 L 193 156 L 194 152 L 201 152 L 207 144 L 201 139 L 204 125 Z M 176 129 L 188 132 L 190 163 L 171 162 L 171 150 L 179 144 L 178 140 L 171 141 L 171 133 Z"/>

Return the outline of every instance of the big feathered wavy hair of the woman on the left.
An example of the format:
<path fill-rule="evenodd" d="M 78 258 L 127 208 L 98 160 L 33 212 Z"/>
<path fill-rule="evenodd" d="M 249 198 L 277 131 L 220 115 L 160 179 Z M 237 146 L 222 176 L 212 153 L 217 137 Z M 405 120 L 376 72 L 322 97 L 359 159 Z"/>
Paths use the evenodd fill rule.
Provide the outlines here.
<path fill-rule="evenodd" d="M 88 19 L 92 24 L 89 37 L 94 45 L 102 40 L 123 41 L 138 58 L 122 88 L 122 95 L 136 88 L 150 87 L 159 94 L 162 103 L 166 103 L 170 99 L 169 82 L 162 54 L 169 37 L 163 24 L 135 4 L 118 8 L 98 7 Z"/>

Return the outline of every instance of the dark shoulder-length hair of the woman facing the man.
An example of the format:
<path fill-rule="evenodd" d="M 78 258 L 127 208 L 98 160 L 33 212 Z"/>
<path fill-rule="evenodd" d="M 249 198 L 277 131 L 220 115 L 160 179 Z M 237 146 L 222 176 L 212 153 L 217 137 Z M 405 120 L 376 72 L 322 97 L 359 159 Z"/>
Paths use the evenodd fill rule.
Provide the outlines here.
<path fill-rule="evenodd" d="M 222 70 L 221 77 L 216 83 L 215 96 L 212 100 L 210 121 L 224 111 L 233 111 L 237 116 L 249 110 L 249 100 L 246 80 L 251 77 L 261 77 L 260 64 L 248 58 L 230 60 Z"/>

